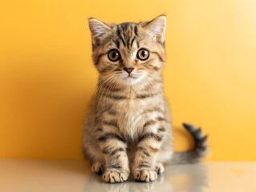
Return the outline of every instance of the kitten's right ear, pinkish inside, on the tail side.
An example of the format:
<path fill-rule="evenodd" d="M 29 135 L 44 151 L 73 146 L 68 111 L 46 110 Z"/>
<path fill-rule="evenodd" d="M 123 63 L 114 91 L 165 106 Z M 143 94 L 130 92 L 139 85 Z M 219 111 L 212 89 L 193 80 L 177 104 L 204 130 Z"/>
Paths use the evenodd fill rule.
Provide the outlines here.
<path fill-rule="evenodd" d="M 161 15 L 157 18 L 154 18 L 151 22 L 148 22 L 144 28 L 149 30 L 153 37 L 156 39 L 156 42 L 164 43 L 165 42 L 165 27 L 166 27 L 166 17 Z"/>

